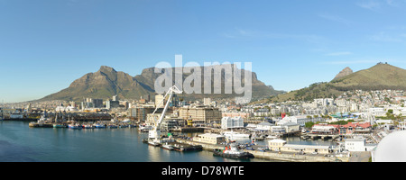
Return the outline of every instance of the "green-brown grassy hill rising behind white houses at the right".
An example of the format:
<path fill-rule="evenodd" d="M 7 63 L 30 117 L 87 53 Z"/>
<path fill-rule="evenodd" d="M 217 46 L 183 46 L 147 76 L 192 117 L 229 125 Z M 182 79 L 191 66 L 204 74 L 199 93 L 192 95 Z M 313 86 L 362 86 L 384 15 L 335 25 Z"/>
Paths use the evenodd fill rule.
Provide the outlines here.
<path fill-rule="evenodd" d="M 343 70 L 344 71 L 344 70 Z M 343 72 L 342 71 L 342 72 Z M 336 97 L 348 90 L 406 90 L 406 70 L 389 64 L 378 63 L 374 67 L 355 73 L 339 73 L 330 82 L 320 82 L 309 85 L 287 94 L 279 94 L 265 99 L 260 103 L 283 102 L 289 100 L 312 101 L 315 98 Z M 352 70 L 351 70 L 352 71 Z M 346 74 L 346 75 L 343 75 Z"/>

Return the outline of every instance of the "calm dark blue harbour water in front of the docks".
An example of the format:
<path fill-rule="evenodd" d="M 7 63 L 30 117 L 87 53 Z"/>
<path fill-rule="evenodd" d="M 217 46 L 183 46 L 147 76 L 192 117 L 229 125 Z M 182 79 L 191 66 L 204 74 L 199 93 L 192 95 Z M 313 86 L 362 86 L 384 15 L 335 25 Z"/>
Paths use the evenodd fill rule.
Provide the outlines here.
<path fill-rule="evenodd" d="M 30 128 L 24 121 L 0 121 L 0 162 L 235 162 L 270 161 L 260 158 L 235 160 L 214 157 L 207 150 L 168 151 L 148 146 L 147 133 L 137 129 L 71 130 Z M 249 140 L 249 139 L 248 139 Z M 286 139 L 296 144 L 330 144 L 325 141 Z M 244 141 L 244 140 L 243 140 Z M 266 141 L 259 141 L 265 144 Z"/>

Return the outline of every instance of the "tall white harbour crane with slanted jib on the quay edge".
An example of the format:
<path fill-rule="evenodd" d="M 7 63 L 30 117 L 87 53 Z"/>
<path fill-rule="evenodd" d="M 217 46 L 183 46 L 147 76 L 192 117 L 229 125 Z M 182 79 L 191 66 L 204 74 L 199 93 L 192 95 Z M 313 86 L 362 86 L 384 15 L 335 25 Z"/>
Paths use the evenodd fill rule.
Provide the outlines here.
<path fill-rule="evenodd" d="M 160 137 L 161 137 L 161 132 L 159 130 L 161 121 L 165 117 L 165 112 L 168 110 L 169 103 L 171 103 L 173 94 L 181 94 L 182 91 L 176 87 L 176 85 L 171 86 L 171 88 L 166 92 L 165 96 L 163 96 L 161 103 L 159 103 L 156 107 L 155 110 L 152 112 L 152 118 L 153 118 L 153 125 L 152 125 L 152 130 L 149 130 L 148 132 L 148 143 L 151 144 L 152 146 L 159 146 L 160 144 Z M 165 101 L 166 97 L 168 97 L 168 101 L 166 102 L 163 111 L 161 113 L 160 118 L 158 121 L 155 120 L 155 112 L 158 110 L 158 108 L 161 106 L 161 104 Z"/>

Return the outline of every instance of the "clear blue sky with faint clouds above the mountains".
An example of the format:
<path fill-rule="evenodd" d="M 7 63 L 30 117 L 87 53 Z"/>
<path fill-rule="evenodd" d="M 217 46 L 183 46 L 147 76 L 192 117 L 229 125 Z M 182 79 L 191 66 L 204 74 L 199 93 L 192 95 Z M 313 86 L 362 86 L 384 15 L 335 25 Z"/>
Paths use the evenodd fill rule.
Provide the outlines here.
<path fill-rule="evenodd" d="M 0 0 L 0 102 L 42 98 L 102 65 L 252 62 L 296 90 L 383 61 L 406 67 L 405 0 Z"/>

